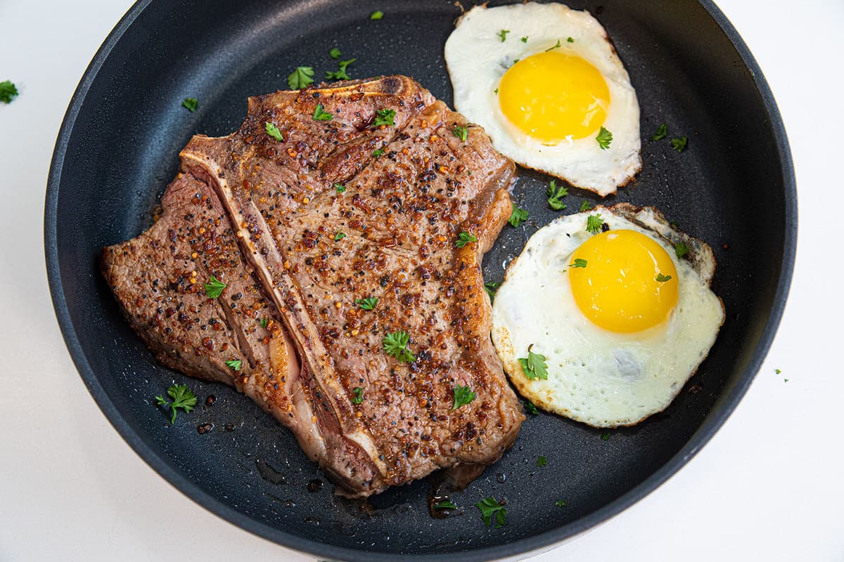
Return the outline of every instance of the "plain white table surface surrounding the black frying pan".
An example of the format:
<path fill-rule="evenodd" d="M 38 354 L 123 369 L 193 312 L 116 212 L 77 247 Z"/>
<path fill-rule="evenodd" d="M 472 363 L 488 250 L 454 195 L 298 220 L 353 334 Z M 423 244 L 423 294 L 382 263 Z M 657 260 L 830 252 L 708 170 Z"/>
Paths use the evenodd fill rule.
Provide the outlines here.
<path fill-rule="evenodd" d="M 844 188 L 844 2 L 718 4 L 765 72 L 792 144 L 801 222 L 785 316 L 744 400 L 687 466 L 536 562 L 844 560 L 844 229 L 832 212 Z M 47 169 L 79 78 L 129 6 L 0 0 L 0 81 L 20 90 L 0 104 L 0 560 L 312 560 L 205 511 L 143 463 L 89 396 L 57 327 Z"/>

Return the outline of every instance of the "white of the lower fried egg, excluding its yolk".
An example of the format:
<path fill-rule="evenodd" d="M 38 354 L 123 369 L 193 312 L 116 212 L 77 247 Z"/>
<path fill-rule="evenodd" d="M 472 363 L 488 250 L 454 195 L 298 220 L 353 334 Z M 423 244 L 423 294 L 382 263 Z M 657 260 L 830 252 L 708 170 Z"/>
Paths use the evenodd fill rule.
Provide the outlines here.
<path fill-rule="evenodd" d="M 656 240 L 674 261 L 679 297 L 663 324 L 619 334 L 592 324 L 577 307 L 566 270 L 592 236 L 587 217 L 598 213 L 611 229 Z M 690 248 L 683 259 L 678 242 Z M 715 342 L 724 308 L 709 288 L 714 270 L 709 246 L 653 209 L 620 204 L 560 217 L 533 234 L 506 272 L 493 303 L 495 349 L 511 383 L 539 408 L 590 426 L 635 425 L 668 407 Z M 517 361 L 530 345 L 547 357 L 547 380 L 528 379 Z"/>

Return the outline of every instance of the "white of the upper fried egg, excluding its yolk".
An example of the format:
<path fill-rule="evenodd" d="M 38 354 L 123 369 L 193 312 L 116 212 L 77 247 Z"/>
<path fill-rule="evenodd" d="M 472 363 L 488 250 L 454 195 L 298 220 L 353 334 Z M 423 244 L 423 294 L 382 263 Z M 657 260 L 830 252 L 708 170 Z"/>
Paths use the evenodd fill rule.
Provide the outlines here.
<path fill-rule="evenodd" d="M 501 29 L 510 31 L 504 41 L 498 35 Z M 522 42 L 525 36 L 527 42 Z M 561 52 L 590 62 L 609 87 L 603 126 L 612 132 L 613 140 L 606 150 L 595 140 L 598 131 L 546 145 L 519 131 L 501 112 L 495 89 L 507 69 L 517 60 L 554 47 L 558 40 Z M 495 149 L 522 166 L 599 195 L 614 193 L 641 169 L 636 90 L 607 32 L 590 13 L 560 3 L 476 6 L 457 21 L 446 40 L 445 56 L 455 109 L 483 126 Z"/>

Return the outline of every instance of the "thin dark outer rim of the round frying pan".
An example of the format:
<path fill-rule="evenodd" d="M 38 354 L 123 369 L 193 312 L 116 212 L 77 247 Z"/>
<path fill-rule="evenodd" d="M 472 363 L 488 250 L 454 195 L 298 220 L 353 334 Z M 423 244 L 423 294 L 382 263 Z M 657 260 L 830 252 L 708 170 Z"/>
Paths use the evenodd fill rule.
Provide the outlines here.
<path fill-rule="evenodd" d="M 756 346 L 753 356 L 749 361 L 749 365 L 745 368 L 738 382 L 730 391 L 728 396 L 723 399 L 723 404 L 717 412 L 711 413 L 701 426 L 691 436 L 689 442 L 677 452 L 674 457 L 670 458 L 667 463 L 657 469 L 654 473 L 637 484 L 632 490 L 624 495 L 619 496 L 615 500 L 602 506 L 596 511 L 588 514 L 586 517 L 571 522 L 565 526 L 557 527 L 553 530 L 544 533 L 538 533 L 531 537 L 521 538 L 506 544 L 490 545 L 473 550 L 460 551 L 463 559 L 467 561 L 480 561 L 490 559 L 506 559 L 519 554 L 527 554 L 530 552 L 537 553 L 542 550 L 553 548 L 555 545 L 565 542 L 568 539 L 585 533 L 587 530 L 597 527 L 602 522 L 609 520 L 611 517 L 618 515 L 621 511 L 641 500 L 646 495 L 656 490 L 660 485 L 664 484 L 668 479 L 676 474 L 680 468 L 684 467 L 701 447 L 710 441 L 711 437 L 718 431 L 728 417 L 733 413 L 733 410 L 738 405 L 738 402 L 744 397 L 750 384 L 759 372 L 762 362 L 764 361 L 767 352 L 770 349 L 771 343 L 776 335 L 780 321 L 782 320 L 782 313 L 784 311 L 787 295 L 791 286 L 793 268 L 797 250 L 797 222 L 798 222 L 798 203 L 797 203 L 797 185 L 794 177 L 794 167 L 791 150 L 788 144 L 785 127 L 782 123 L 782 116 L 776 106 L 771 89 L 766 82 L 764 75 L 755 58 L 749 51 L 744 40 L 738 35 L 738 31 L 733 27 L 727 17 L 721 12 L 712 0 L 698 0 L 701 7 L 706 9 L 711 18 L 722 30 L 723 34 L 727 36 L 733 47 L 741 57 L 744 66 L 749 70 L 757 92 L 765 104 L 766 115 L 771 125 L 771 130 L 776 139 L 776 150 L 779 157 L 779 162 L 782 167 L 782 180 L 784 185 L 784 206 L 785 217 L 783 225 L 783 254 L 780 263 L 781 275 L 776 286 L 776 293 L 771 305 L 771 311 L 768 316 L 765 329 L 760 335 L 759 344 Z M 45 256 L 46 256 L 46 270 L 47 278 L 50 286 L 51 298 L 53 308 L 56 313 L 59 327 L 62 331 L 62 337 L 68 347 L 73 363 L 79 372 L 79 376 L 88 388 L 89 393 L 94 398 L 95 403 L 100 410 L 106 415 L 111 426 L 122 436 L 124 441 L 132 447 L 133 451 L 143 459 L 149 467 L 153 468 L 156 473 L 160 474 L 169 484 L 174 486 L 176 490 L 187 495 L 198 505 L 203 506 L 208 511 L 214 513 L 225 521 L 241 527 L 246 531 L 253 533 L 259 537 L 266 538 L 273 543 L 277 543 L 284 547 L 295 549 L 300 552 L 314 554 L 317 556 L 327 557 L 331 559 L 344 560 L 372 560 L 374 562 L 387 560 L 394 560 L 398 557 L 402 559 L 414 560 L 414 562 L 444 562 L 446 557 L 452 554 L 392 554 L 385 552 L 370 552 L 358 551 L 336 547 L 326 543 L 319 543 L 317 541 L 302 538 L 298 535 L 288 533 L 277 527 L 272 527 L 268 524 L 257 522 L 251 517 L 247 517 L 240 511 L 225 506 L 214 495 L 209 494 L 197 484 L 183 476 L 170 461 L 154 451 L 154 448 L 149 445 L 147 440 L 139 434 L 135 429 L 125 420 L 116 405 L 108 398 L 105 389 L 101 386 L 99 378 L 96 376 L 94 370 L 85 356 L 85 352 L 79 343 L 76 329 L 73 326 L 73 321 L 70 317 L 68 304 L 64 297 L 64 288 L 62 284 L 61 271 L 58 265 L 58 246 L 57 246 L 57 211 L 58 211 L 58 194 L 62 181 L 62 168 L 64 165 L 65 153 L 68 150 L 70 139 L 73 135 L 73 127 L 76 118 L 81 110 L 89 88 L 97 78 L 101 67 L 106 59 L 111 54 L 111 51 L 121 40 L 122 35 L 126 30 L 138 19 L 138 16 L 143 13 L 143 10 L 152 3 L 152 0 L 138 0 L 132 8 L 120 19 L 115 28 L 106 37 L 106 40 L 96 52 L 94 58 L 91 60 L 89 67 L 85 70 L 83 77 L 80 79 L 78 86 L 73 94 L 73 98 L 68 104 L 68 110 L 62 120 L 62 126 L 59 129 L 57 142 L 53 151 L 50 171 L 47 179 L 46 201 L 45 201 L 45 221 L 44 221 L 44 240 L 45 240 Z"/>

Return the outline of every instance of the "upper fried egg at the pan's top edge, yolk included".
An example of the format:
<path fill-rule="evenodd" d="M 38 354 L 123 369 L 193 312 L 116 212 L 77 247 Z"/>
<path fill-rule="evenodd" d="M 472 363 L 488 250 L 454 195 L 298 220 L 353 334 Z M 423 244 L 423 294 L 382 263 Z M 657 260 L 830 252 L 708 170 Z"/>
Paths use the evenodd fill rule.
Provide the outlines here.
<path fill-rule="evenodd" d="M 636 91 L 590 13 L 476 6 L 457 21 L 445 56 L 455 109 L 522 166 L 599 195 L 641 169 Z"/>

